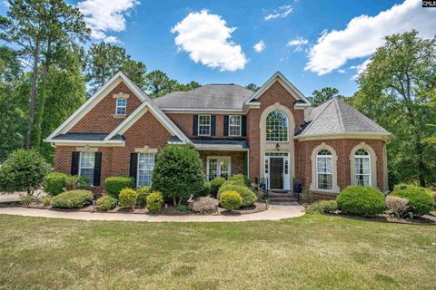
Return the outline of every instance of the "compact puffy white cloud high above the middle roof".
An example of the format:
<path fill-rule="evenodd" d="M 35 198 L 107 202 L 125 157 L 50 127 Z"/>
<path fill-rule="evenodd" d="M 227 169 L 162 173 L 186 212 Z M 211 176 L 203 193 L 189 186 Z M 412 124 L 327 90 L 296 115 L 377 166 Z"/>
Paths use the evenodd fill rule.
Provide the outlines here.
<path fill-rule="evenodd" d="M 189 53 L 195 63 L 203 63 L 221 72 L 241 70 L 247 63 L 241 45 L 233 43 L 232 33 L 236 27 L 228 27 L 221 15 L 208 10 L 192 12 L 171 32 L 179 50 Z"/>

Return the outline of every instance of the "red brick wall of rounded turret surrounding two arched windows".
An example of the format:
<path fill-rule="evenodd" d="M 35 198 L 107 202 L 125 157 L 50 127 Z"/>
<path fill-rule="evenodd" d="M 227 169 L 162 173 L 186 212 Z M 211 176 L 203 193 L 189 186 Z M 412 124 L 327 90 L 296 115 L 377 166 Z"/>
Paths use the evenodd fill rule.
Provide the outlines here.
<path fill-rule="evenodd" d="M 383 181 L 383 140 L 334 139 L 334 140 L 306 140 L 295 142 L 295 169 L 296 179 L 301 180 L 304 189 L 309 189 L 312 179 L 312 150 L 324 142 L 332 146 L 338 155 L 337 172 L 338 185 L 345 189 L 351 184 L 352 169 L 350 154 L 354 146 L 365 142 L 375 151 L 377 156 L 377 187 L 384 189 Z"/>

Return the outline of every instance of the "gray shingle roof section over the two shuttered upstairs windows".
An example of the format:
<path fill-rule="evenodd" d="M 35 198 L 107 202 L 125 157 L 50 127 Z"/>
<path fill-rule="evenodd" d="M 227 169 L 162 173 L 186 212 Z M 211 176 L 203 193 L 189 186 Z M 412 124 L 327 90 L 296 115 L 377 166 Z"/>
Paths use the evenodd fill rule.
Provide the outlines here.
<path fill-rule="evenodd" d="M 253 91 L 238 84 L 206 84 L 187 92 L 171 92 L 154 99 L 161 109 L 243 109 Z"/>

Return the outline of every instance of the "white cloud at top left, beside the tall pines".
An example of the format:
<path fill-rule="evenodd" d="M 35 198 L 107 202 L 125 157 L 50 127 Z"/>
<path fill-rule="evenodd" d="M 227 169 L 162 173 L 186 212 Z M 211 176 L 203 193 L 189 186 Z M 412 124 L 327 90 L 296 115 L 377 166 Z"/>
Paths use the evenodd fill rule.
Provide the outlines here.
<path fill-rule="evenodd" d="M 115 36 L 109 32 L 125 30 L 125 16 L 129 15 L 139 0 L 84 0 L 77 4 L 84 14 L 84 21 L 91 28 L 91 37 L 107 43 L 116 43 Z"/>

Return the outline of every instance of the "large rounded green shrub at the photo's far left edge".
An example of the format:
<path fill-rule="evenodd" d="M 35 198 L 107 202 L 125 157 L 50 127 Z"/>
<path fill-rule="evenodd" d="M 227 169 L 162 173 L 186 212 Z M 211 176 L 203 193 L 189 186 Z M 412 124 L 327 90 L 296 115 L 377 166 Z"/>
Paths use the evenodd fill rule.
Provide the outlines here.
<path fill-rule="evenodd" d="M 36 150 L 15 150 L 0 165 L 0 192 L 26 191 L 33 196 L 43 184 L 50 166 Z"/>

